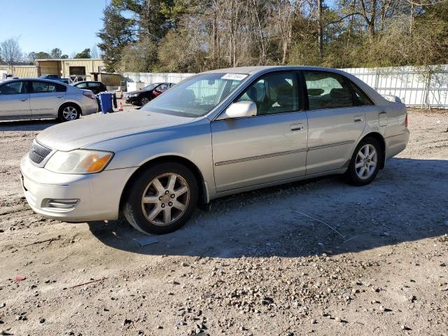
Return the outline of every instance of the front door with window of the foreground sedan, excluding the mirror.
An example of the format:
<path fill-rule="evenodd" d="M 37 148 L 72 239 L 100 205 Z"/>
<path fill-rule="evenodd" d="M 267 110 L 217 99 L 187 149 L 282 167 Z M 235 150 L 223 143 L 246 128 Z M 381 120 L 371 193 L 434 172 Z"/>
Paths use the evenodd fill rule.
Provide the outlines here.
<path fill-rule="evenodd" d="M 307 115 L 295 71 L 268 73 L 235 102 L 252 101 L 257 116 L 211 123 L 218 192 L 303 176 Z"/>

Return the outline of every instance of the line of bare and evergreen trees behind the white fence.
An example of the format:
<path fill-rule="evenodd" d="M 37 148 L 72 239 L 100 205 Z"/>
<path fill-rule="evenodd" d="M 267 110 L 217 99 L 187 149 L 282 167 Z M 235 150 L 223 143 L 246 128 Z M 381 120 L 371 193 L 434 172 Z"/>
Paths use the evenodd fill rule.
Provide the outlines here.
<path fill-rule="evenodd" d="M 112 0 L 108 71 L 448 63 L 447 0 Z"/>

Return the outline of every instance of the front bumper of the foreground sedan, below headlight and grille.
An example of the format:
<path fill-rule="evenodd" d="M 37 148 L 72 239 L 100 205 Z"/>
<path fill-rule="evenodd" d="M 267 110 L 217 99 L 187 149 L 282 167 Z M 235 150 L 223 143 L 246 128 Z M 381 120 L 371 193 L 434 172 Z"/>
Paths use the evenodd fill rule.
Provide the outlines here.
<path fill-rule="evenodd" d="M 36 167 L 25 155 L 20 162 L 22 188 L 31 209 L 48 218 L 68 222 L 118 219 L 120 197 L 134 168 L 97 174 L 57 174 Z M 79 200 L 75 207 L 48 207 L 48 200 Z"/>

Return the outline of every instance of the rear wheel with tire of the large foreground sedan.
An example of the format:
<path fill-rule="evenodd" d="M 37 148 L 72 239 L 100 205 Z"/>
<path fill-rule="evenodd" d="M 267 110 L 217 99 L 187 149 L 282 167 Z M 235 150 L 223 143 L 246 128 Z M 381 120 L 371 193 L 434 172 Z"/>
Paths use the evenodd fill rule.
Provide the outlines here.
<path fill-rule="evenodd" d="M 384 153 L 377 139 L 367 137 L 356 146 L 346 176 L 353 186 L 365 186 L 378 174 Z"/>

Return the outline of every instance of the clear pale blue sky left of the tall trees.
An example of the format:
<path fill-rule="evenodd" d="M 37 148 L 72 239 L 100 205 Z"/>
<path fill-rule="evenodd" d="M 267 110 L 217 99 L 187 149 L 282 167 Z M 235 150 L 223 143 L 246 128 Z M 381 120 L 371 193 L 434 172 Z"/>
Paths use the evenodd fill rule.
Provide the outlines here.
<path fill-rule="evenodd" d="M 0 41 L 19 37 L 22 52 L 59 48 L 71 56 L 99 43 L 108 0 L 0 0 Z"/>

